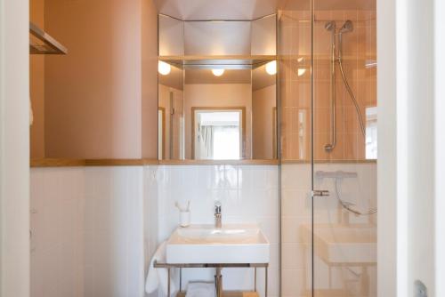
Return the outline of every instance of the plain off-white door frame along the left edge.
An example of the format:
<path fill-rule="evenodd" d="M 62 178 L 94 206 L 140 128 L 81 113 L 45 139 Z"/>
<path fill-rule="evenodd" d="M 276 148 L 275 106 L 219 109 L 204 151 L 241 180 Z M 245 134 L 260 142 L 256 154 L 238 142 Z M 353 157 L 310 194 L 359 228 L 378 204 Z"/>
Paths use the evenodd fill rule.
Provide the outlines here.
<path fill-rule="evenodd" d="M 0 295 L 29 296 L 29 4 L 0 0 Z"/>

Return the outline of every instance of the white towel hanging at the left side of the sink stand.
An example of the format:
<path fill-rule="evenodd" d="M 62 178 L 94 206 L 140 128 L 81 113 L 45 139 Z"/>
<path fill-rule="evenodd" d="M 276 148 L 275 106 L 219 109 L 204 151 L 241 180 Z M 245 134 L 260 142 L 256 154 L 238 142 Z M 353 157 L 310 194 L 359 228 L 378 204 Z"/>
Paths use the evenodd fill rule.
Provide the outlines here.
<path fill-rule="evenodd" d="M 166 242 L 163 242 L 158 246 L 158 250 L 156 250 L 153 258 L 151 258 L 149 274 L 147 276 L 147 280 L 145 281 L 145 292 L 153 293 L 158 290 L 160 286 L 162 291 L 166 294 L 168 281 L 170 281 L 170 293 L 173 294 L 176 291 L 176 287 L 174 282 L 171 279 L 168 279 L 167 269 L 155 269 L 153 267 L 154 261 L 158 261 L 159 263 L 166 262 Z"/>

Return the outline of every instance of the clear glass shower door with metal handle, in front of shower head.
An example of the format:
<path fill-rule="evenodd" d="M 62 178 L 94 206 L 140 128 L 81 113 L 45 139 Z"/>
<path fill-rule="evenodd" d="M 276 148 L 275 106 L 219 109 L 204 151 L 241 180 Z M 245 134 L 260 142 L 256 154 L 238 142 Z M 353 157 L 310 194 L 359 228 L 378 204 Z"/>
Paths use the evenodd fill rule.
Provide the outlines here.
<path fill-rule="evenodd" d="M 376 296 L 376 4 L 313 5 L 312 296 Z"/>

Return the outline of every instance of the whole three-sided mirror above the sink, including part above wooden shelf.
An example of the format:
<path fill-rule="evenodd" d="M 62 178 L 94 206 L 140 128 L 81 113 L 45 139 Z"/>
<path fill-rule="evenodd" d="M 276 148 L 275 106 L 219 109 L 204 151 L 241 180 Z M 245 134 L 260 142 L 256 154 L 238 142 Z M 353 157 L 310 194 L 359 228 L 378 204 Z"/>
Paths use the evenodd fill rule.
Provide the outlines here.
<path fill-rule="evenodd" d="M 159 159 L 277 157 L 276 21 L 159 15 Z"/>

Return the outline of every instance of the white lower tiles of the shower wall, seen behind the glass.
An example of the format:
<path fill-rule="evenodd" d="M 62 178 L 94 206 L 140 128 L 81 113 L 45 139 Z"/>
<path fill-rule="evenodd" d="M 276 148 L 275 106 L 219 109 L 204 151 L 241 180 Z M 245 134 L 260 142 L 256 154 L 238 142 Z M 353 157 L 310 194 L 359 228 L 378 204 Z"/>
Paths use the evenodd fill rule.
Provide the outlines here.
<path fill-rule="evenodd" d="M 311 290 L 311 246 L 303 243 L 301 226 L 312 223 L 312 169 L 311 165 L 282 165 L 281 180 L 281 222 L 282 222 L 282 295 L 303 297 Z M 376 206 L 376 164 L 316 164 L 317 171 L 344 171 L 358 173 L 357 179 L 339 182 L 342 198 L 354 202 L 361 210 Z M 316 197 L 314 200 L 314 223 L 339 222 L 339 204 L 332 180 L 314 179 L 315 189 L 328 189 L 330 197 Z M 351 223 L 375 224 L 375 215 L 357 217 L 348 214 Z M 314 247 L 315 251 L 317 246 Z M 347 269 L 334 269 L 329 284 L 328 267 L 315 257 L 315 289 L 344 288 Z M 375 296 L 376 271 L 370 269 L 370 296 Z M 332 286 L 331 286 L 332 285 Z"/>

